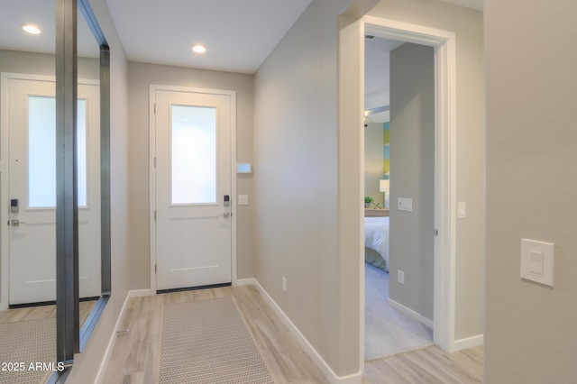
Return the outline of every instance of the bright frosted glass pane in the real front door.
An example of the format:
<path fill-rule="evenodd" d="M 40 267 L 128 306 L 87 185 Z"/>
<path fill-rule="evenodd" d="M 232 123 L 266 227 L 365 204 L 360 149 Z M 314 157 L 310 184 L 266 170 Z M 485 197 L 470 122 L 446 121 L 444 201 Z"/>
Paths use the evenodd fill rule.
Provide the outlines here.
<path fill-rule="evenodd" d="M 216 203 L 216 108 L 172 105 L 171 203 Z"/>

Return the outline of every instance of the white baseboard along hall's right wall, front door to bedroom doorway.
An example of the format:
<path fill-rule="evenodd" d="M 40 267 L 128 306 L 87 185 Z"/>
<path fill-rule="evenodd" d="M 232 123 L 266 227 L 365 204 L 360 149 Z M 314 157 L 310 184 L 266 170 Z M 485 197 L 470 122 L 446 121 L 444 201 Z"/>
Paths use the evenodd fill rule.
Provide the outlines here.
<path fill-rule="evenodd" d="M 248 279 L 247 279 L 248 280 Z M 353 373 L 352 375 L 348 376 L 337 376 L 334 373 L 334 370 L 329 367 L 326 361 L 321 357 L 318 352 L 316 352 L 315 348 L 308 343 L 307 338 L 300 333 L 297 326 L 294 325 L 289 316 L 287 316 L 280 306 L 270 297 L 269 293 L 262 288 L 261 284 L 256 279 L 251 279 L 252 283 L 259 291 L 261 295 L 268 301 L 269 305 L 272 307 L 276 315 L 279 316 L 280 320 L 284 325 L 289 328 L 289 332 L 293 334 L 296 338 L 300 346 L 307 352 L 308 356 L 311 358 L 312 361 L 315 362 L 316 366 L 323 372 L 325 378 L 329 380 L 331 383 L 339 383 L 339 384 L 361 384 L 362 383 L 362 371 L 357 373 Z M 238 281 L 237 281 L 238 283 Z"/>

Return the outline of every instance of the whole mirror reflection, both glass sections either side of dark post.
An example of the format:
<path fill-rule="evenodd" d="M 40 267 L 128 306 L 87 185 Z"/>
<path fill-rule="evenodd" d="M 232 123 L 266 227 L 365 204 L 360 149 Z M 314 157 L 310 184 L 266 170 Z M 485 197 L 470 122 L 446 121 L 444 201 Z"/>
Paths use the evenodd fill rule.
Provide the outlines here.
<path fill-rule="evenodd" d="M 27 24 L 36 26 L 40 33 L 24 32 L 23 26 Z M 52 190 L 54 52 L 54 1 L 19 0 L 3 4 L 0 215 L 9 225 L 0 226 L 0 361 L 49 364 L 44 368 L 50 368 L 50 363 L 56 361 L 57 343 L 56 220 Z M 83 14 L 78 12 L 78 278 L 80 297 L 84 297 L 79 305 L 79 322 L 82 325 L 86 321 L 92 327 L 102 312 L 102 305 L 99 309 L 98 305 L 102 303 L 103 288 L 99 55 L 99 44 Z M 98 298 L 100 301 L 96 301 Z M 12 373 L 26 372 L 32 375 L 23 379 L 25 382 L 40 381 L 48 373 L 46 370 Z M 10 374 L 0 371 L 0 382 L 10 381 Z"/>

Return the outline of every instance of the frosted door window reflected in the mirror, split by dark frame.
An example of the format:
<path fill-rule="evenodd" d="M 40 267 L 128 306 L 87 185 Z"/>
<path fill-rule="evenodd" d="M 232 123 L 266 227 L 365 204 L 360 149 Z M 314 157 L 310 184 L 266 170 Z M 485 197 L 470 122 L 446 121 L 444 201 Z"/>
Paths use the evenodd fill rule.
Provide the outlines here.
<path fill-rule="evenodd" d="M 78 206 L 87 205 L 86 102 L 78 100 Z M 28 97 L 28 206 L 56 206 L 56 99 Z"/>

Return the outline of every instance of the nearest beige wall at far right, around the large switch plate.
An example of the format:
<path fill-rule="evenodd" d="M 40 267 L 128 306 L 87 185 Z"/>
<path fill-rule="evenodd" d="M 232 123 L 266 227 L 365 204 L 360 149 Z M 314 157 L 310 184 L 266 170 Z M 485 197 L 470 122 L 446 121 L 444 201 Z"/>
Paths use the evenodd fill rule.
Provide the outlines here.
<path fill-rule="evenodd" d="M 485 381 L 574 382 L 577 6 L 573 0 L 484 6 Z M 521 238 L 554 242 L 554 288 L 520 279 Z"/>

